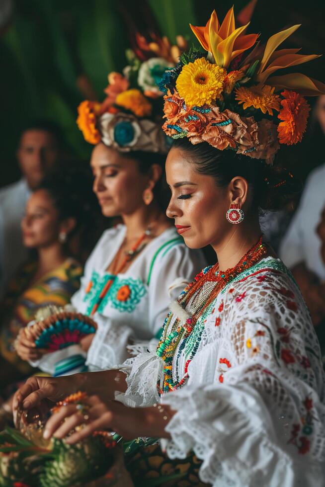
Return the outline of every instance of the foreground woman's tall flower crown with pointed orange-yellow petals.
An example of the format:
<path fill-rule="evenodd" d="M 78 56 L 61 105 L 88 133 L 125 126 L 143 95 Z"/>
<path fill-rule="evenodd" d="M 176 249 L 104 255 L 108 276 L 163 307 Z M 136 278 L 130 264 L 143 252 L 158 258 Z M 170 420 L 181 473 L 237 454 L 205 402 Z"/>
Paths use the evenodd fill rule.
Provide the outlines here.
<path fill-rule="evenodd" d="M 301 142 L 310 110 L 304 95 L 325 93 L 325 84 L 300 73 L 271 76 L 319 57 L 277 50 L 300 25 L 274 34 L 263 47 L 258 34 L 243 34 L 248 24 L 236 28 L 231 8 L 221 25 L 215 10 L 205 27 L 190 25 L 208 54 L 191 49 L 165 71 L 163 130 L 173 139 L 272 163 L 280 144 Z"/>

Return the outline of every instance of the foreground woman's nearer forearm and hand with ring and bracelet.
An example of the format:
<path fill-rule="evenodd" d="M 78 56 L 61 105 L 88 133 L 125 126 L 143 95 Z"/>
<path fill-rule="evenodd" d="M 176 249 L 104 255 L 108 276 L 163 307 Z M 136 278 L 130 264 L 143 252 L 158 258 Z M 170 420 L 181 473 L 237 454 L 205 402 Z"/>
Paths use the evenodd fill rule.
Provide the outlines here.
<path fill-rule="evenodd" d="M 82 400 L 82 407 L 71 404 L 62 406 L 46 423 L 44 438 L 52 435 L 65 438 L 76 426 L 85 426 L 66 438 L 66 443 L 76 443 L 94 431 L 114 431 L 125 439 L 138 436 L 168 437 L 164 427 L 172 416 L 168 406 L 159 410 L 157 407 L 127 407 L 117 401 L 103 403 L 98 396 Z"/>

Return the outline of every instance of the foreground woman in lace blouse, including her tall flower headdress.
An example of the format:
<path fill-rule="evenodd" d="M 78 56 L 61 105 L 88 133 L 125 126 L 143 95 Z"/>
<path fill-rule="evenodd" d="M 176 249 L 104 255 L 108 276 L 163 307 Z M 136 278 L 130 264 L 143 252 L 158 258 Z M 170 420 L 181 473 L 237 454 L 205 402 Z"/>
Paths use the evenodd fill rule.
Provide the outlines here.
<path fill-rule="evenodd" d="M 15 407 L 85 391 L 87 421 L 68 404 L 44 436 L 70 433 L 72 444 L 106 428 L 126 438 L 162 438 L 160 480 L 177 473 L 166 485 L 323 486 L 320 347 L 290 272 L 263 242 L 258 209 L 295 189 L 292 175 L 270 164 L 280 144 L 302 138 L 309 110 L 303 93 L 325 85 L 297 73 L 269 78 L 313 59 L 277 50 L 298 26 L 248 56 L 257 36 L 242 35 L 245 27 L 235 28 L 233 9 L 221 26 L 213 12 L 205 27 L 192 27 L 208 55 L 183 55 L 164 77 L 164 130 L 176 139 L 166 160 L 167 215 L 189 247 L 210 243 L 218 263 L 172 302 L 156 354 L 147 350 L 91 381 L 89 374 L 31 379 Z M 150 448 L 155 457 L 146 461 Z M 157 477 L 158 447 L 150 448 L 139 448 L 136 464 L 126 458 L 136 485 L 146 469 Z"/>

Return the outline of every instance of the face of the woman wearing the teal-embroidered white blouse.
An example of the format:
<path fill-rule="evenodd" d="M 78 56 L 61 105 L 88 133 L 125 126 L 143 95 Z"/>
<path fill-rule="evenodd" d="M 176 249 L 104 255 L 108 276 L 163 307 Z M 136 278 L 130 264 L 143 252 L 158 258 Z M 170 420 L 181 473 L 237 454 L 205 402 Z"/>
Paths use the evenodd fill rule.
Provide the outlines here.
<path fill-rule="evenodd" d="M 93 190 L 103 215 L 129 215 L 144 204 L 143 192 L 149 176 L 141 174 L 136 161 L 98 144 L 92 151 L 90 165 L 94 175 Z"/>

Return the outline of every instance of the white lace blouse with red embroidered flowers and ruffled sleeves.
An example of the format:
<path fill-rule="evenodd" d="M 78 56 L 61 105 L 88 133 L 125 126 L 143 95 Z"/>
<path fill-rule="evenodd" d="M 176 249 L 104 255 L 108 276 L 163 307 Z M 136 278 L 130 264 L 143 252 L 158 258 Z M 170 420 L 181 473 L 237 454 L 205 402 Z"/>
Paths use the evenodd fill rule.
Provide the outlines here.
<path fill-rule="evenodd" d="M 214 284 L 207 282 L 179 310 L 182 323 Z M 163 336 L 174 321 L 175 316 L 166 322 Z M 183 387 L 159 398 L 165 363 L 147 351 L 121 367 L 128 374 L 128 390 L 117 399 L 130 406 L 161 400 L 176 411 L 166 426 L 171 436 L 167 454 L 185 458 L 194 450 L 202 459 L 203 482 L 324 486 L 320 357 L 299 289 L 280 260 L 266 257 L 228 283 L 190 336 L 179 341 L 172 385 L 188 376 Z"/>

